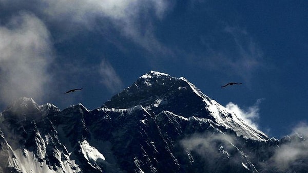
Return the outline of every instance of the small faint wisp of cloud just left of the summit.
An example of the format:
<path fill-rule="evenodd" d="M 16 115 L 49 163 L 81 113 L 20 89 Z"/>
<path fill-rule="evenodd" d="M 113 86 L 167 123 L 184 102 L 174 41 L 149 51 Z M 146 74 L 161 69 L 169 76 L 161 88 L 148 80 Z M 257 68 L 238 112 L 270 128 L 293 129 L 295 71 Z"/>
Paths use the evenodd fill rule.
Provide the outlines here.
<path fill-rule="evenodd" d="M 107 60 L 102 60 L 99 68 L 99 73 L 101 75 L 101 82 L 106 86 L 106 88 L 111 92 L 118 92 L 123 88 L 123 83 L 114 71 L 111 64 Z"/>

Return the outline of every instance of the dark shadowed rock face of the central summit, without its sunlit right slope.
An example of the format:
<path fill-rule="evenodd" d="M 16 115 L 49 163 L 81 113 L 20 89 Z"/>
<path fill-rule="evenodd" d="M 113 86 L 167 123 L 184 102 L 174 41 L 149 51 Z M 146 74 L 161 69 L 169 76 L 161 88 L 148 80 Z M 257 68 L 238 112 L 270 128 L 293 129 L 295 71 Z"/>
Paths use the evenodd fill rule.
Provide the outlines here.
<path fill-rule="evenodd" d="M 204 100 L 211 102 L 209 97 L 184 77 L 171 77 L 165 73 L 150 71 L 139 77 L 130 87 L 113 96 L 102 107 L 128 109 L 142 105 L 149 108 L 168 103 L 168 106 L 175 107 L 176 110 L 188 111 L 191 107 L 196 107 L 196 103 L 204 106 Z M 167 109 L 164 106 L 161 108 Z M 192 113 L 187 113 L 186 116 L 191 115 Z"/>

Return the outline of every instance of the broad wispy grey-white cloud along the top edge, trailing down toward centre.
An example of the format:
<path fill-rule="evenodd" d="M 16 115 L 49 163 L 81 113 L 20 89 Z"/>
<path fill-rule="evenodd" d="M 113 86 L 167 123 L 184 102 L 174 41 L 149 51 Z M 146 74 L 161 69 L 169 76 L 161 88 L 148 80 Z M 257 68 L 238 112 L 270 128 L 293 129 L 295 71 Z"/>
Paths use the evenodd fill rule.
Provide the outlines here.
<path fill-rule="evenodd" d="M 137 45 L 151 52 L 168 51 L 156 38 L 153 20 L 162 19 L 169 9 L 170 2 L 164 0 L 76 0 L 38 1 L 35 8 L 16 1 L 2 0 L 6 11 L 31 11 L 44 18 L 50 26 L 57 28 L 66 37 L 69 34 L 86 30 L 118 30 Z M 1 7 L 0 7 L 1 10 Z M 110 25 L 111 24 L 111 25 Z M 57 38 L 62 39 L 62 38 Z M 116 38 L 114 38 L 116 39 Z"/>

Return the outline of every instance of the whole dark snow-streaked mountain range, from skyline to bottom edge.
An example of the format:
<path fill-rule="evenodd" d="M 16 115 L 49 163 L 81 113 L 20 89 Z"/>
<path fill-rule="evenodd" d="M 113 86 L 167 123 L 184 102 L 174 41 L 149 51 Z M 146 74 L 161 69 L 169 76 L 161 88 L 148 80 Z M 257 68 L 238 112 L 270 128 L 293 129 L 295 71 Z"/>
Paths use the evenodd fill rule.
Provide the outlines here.
<path fill-rule="evenodd" d="M 0 172 L 303 172 L 269 139 L 185 78 L 151 71 L 99 109 L 21 98 L 0 115 Z M 302 142 L 302 143 L 301 143 Z M 297 166 L 296 166 L 297 165 Z"/>

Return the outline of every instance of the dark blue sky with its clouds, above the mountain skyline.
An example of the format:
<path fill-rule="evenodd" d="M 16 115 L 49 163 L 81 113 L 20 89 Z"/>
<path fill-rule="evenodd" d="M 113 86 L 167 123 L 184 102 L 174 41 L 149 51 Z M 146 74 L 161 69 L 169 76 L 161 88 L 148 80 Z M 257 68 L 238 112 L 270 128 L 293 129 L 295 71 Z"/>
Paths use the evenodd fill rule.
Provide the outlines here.
<path fill-rule="evenodd" d="M 280 138 L 307 121 L 306 9 L 306 1 L 0 1 L 1 107 L 26 96 L 91 110 L 155 70 L 185 77 Z M 220 88 L 231 81 L 243 84 Z"/>

